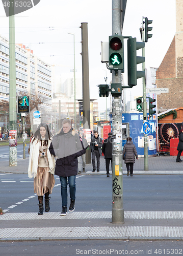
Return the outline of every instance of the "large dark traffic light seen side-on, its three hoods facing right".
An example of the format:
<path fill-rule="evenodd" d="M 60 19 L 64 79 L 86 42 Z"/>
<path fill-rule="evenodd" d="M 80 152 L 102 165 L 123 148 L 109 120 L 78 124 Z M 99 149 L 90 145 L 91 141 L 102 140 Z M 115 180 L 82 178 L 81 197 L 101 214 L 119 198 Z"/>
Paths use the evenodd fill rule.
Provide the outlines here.
<path fill-rule="evenodd" d="M 137 42 L 135 38 L 127 40 L 128 86 L 137 86 L 137 79 L 145 76 L 145 71 L 137 71 L 137 64 L 145 61 L 145 57 L 137 56 L 137 50 L 145 47 L 144 42 Z"/>

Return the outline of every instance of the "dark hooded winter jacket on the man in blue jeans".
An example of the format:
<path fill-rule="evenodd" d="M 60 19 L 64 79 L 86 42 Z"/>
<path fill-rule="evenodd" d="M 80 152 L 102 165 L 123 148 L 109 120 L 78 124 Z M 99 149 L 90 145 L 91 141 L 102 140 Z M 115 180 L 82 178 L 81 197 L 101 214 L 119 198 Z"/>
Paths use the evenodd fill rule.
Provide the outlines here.
<path fill-rule="evenodd" d="M 77 157 L 86 153 L 82 139 L 72 128 L 68 133 L 61 130 L 53 138 L 49 151 L 57 157 L 55 175 L 62 177 L 77 175 Z"/>

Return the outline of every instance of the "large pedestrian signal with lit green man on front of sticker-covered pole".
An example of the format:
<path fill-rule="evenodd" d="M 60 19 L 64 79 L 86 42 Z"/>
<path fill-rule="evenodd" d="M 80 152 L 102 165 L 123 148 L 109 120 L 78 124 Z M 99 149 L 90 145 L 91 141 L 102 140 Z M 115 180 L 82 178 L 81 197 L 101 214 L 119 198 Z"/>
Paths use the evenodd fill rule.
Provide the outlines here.
<path fill-rule="evenodd" d="M 109 36 L 109 69 L 124 72 L 124 47 L 122 35 Z"/>

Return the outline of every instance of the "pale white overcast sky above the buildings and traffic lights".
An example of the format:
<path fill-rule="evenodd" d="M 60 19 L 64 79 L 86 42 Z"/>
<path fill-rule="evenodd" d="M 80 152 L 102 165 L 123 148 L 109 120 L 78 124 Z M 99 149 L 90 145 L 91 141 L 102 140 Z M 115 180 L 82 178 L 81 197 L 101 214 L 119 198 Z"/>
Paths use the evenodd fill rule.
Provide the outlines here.
<path fill-rule="evenodd" d="M 141 41 L 139 28 L 143 16 L 153 20 L 152 38 L 145 43 L 146 68 L 158 68 L 176 32 L 175 0 L 127 0 L 122 35 L 137 37 L 137 41 Z M 73 77 L 73 35 L 68 33 L 74 34 L 76 78 L 82 78 L 81 23 L 88 23 L 90 98 L 98 99 L 102 111 L 106 99 L 99 97 L 97 85 L 106 83 L 106 76 L 109 83 L 112 74 L 106 64 L 101 63 L 100 51 L 101 41 L 108 41 L 112 35 L 112 0 L 41 0 L 32 9 L 15 15 L 15 42 L 30 47 L 35 55 L 55 65 L 55 79 L 61 76 L 64 82 Z M 0 34 L 9 38 L 9 17 L 6 17 L 2 2 Z M 124 54 L 124 81 L 127 85 L 126 39 Z M 138 55 L 141 54 L 139 50 Z M 126 90 L 127 100 L 136 95 L 142 95 L 142 79 L 138 79 L 136 87 Z"/>

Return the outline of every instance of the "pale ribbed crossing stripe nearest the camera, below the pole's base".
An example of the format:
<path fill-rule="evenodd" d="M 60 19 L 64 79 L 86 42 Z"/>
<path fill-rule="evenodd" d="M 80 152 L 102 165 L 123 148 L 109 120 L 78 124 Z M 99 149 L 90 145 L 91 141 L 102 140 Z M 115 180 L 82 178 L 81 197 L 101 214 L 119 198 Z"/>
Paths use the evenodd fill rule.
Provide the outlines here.
<path fill-rule="evenodd" d="M 0 228 L 0 241 L 13 238 L 180 238 L 183 227 L 168 226 L 98 226 Z"/>

